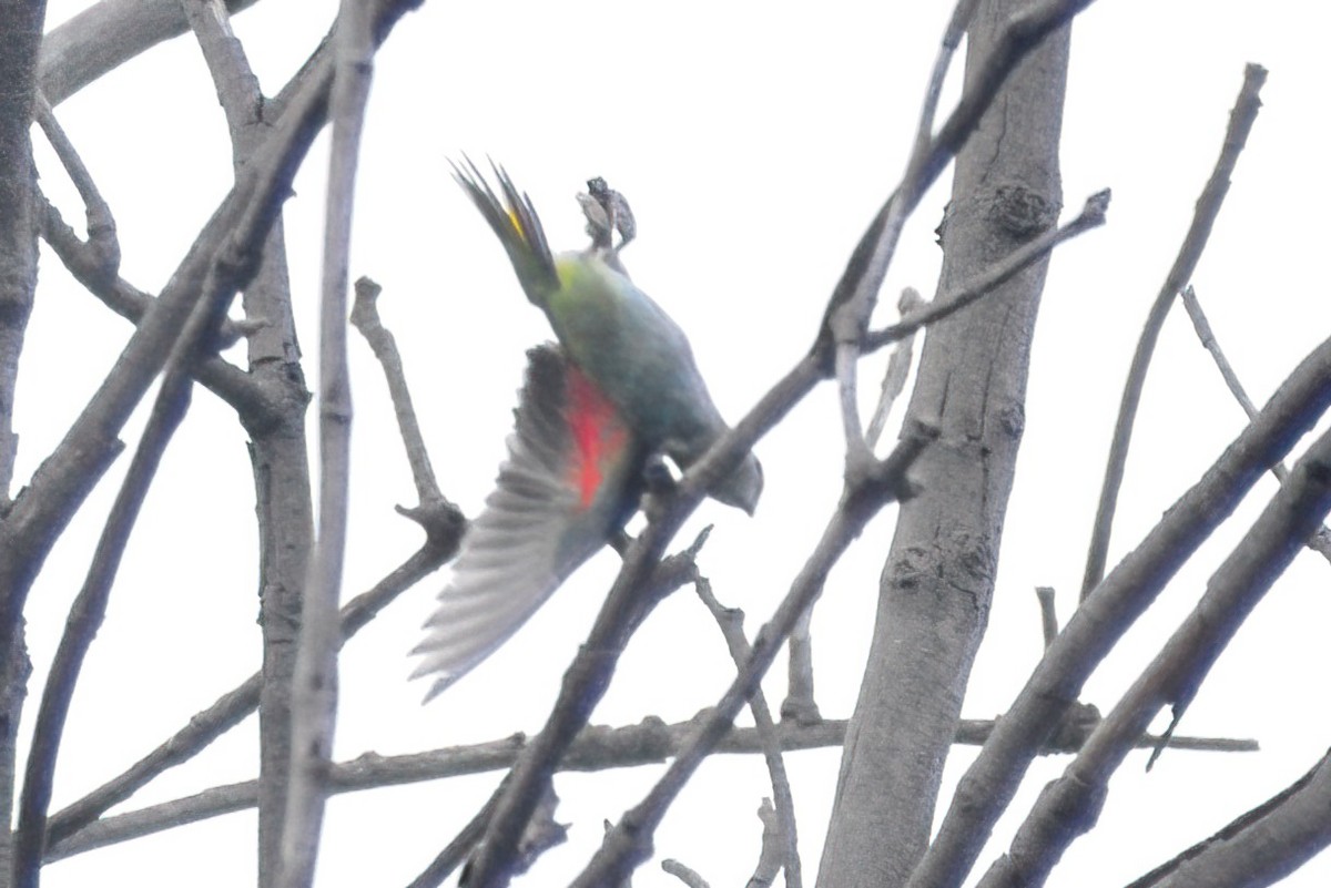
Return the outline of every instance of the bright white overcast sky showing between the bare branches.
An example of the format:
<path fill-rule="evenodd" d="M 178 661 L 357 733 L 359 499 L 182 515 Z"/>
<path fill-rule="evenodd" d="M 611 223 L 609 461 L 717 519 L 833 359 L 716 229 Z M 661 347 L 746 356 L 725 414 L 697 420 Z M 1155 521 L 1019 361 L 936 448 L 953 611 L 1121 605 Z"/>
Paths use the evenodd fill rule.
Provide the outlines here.
<path fill-rule="evenodd" d="M 85 5 L 51 0 L 48 20 L 57 24 Z M 556 249 L 582 243 L 572 194 L 586 178 L 604 175 L 624 191 L 640 231 L 626 262 L 689 331 L 723 412 L 737 417 L 807 348 L 855 241 L 900 174 L 945 5 L 870 9 L 832 0 L 815 15 L 793 5 L 693 0 L 650 12 L 622 3 L 434 0 L 403 20 L 375 69 L 351 273 L 385 286 L 381 308 L 403 352 L 443 491 L 469 513 L 479 506 L 503 455 L 523 350 L 548 336 L 492 235 L 449 181 L 447 157 L 466 150 L 502 160 L 530 191 Z M 268 92 L 303 60 L 334 8 L 330 0 L 266 0 L 236 20 Z M 1114 189 L 1114 202 L 1109 226 L 1061 251 L 1049 277 L 998 589 L 966 717 L 1002 711 L 1038 658 L 1033 588 L 1055 586 L 1061 614 L 1071 611 L 1122 378 L 1215 161 L 1247 61 L 1271 70 L 1264 108 L 1194 282 L 1259 403 L 1326 335 L 1318 257 L 1328 234 L 1319 207 L 1331 199 L 1322 160 L 1328 24 L 1320 4 L 1103 0 L 1075 27 L 1065 205 L 1075 211 L 1105 186 Z M 122 277 L 158 290 L 230 181 L 225 124 L 197 47 L 188 39 L 161 47 L 57 113 L 116 213 Z M 310 355 L 322 146 L 298 178 L 286 217 Z M 81 218 L 44 146 L 39 164 L 67 219 Z M 940 258 L 932 231 L 945 197 L 942 182 L 908 227 L 880 320 L 890 319 L 902 286 L 932 295 Z M 49 254 L 41 284 L 21 363 L 19 479 L 59 440 L 129 334 Z M 419 542 L 414 525 L 391 510 L 410 504 L 414 489 L 382 378 L 358 338 L 351 360 L 357 463 L 346 597 Z M 873 380 L 881 363 L 866 362 L 864 378 Z M 314 388 L 313 362 L 306 371 Z M 835 504 L 840 425 L 831 395 L 819 389 L 760 443 L 767 492 L 756 518 L 709 504 L 692 525 L 716 524 L 703 568 L 723 602 L 749 614 L 751 633 Z M 1195 481 L 1242 421 L 1175 311 L 1142 404 L 1111 560 Z M 56 807 L 118 772 L 257 666 L 253 487 L 244 441 L 229 409 L 198 392 L 88 659 L 61 750 Z M 33 695 L 126 463 L 97 489 L 33 592 Z M 1111 707 L 1272 491 L 1272 481 L 1259 484 L 1097 673 L 1085 699 Z M 858 690 L 892 514 L 847 556 L 816 617 L 827 717 L 847 717 Z M 443 574 L 403 596 L 345 651 L 339 758 L 536 730 L 614 568 L 612 557 L 596 558 L 508 649 L 425 709 L 422 686 L 406 682 L 405 651 Z M 1102 828 L 1073 845 L 1051 884 L 1123 884 L 1316 760 L 1331 742 L 1331 715 L 1316 702 L 1327 674 L 1328 570 L 1315 556 L 1299 556 L 1179 727 L 1189 735 L 1255 736 L 1263 751 L 1169 752 L 1150 775 L 1142 774 L 1145 754 L 1134 754 L 1113 782 Z M 635 639 L 595 721 L 688 718 L 715 701 L 727 669 L 707 614 L 689 594 L 677 596 Z M 780 682 L 769 682 L 768 691 L 779 701 Z M 256 743 L 250 719 L 130 807 L 253 776 Z M 839 756 L 825 750 L 788 759 L 811 880 Z M 949 786 L 972 756 L 956 751 Z M 1065 762 L 1040 763 L 1014 808 L 1024 815 Z M 522 884 L 555 884 L 576 872 L 599 841 L 600 820 L 635 803 L 656 772 L 560 779 L 559 816 L 574 823 L 571 841 Z M 498 778 L 334 799 L 318 884 L 403 884 Z M 765 794 L 756 758 L 709 763 L 660 831 L 658 852 L 715 885 L 741 883 L 756 860 L 760 828 L 752 812 Z M 981 872 L 1006 847 L 1016 822 L 1002 826 Z M 184 879 L 246 884 L 253 830 L 252 812 L 221 818 L 56 864 L 45 884 L 129 873 L 145 887 Z M 1319 860 L 1286 884 L 1328 880 L 1331 861 Z M 679 883 L 654 864 L 635 884 Z"/>

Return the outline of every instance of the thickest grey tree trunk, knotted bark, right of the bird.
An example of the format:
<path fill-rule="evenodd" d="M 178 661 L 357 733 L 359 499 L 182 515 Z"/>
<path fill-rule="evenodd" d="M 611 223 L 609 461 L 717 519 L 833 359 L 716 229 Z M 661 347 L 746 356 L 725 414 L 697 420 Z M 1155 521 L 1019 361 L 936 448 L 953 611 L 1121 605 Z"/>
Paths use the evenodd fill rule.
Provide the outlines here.
<path fill-rule="evenodd" d="M 968 77 L 1022 0 L 982 3 Z M 1069 31 L 1012 73 L 962 153 L 938 291 L 1054 223 Z M 910 416 L 941 437 L 912 475 L 884 565 L 869 663 L 847 736 L 821 888 L 904 885 L 928 844 L 942 764 L 993 594 L 1025 424 L 1030 340 L 1046 263 L 929 330 Z"/>

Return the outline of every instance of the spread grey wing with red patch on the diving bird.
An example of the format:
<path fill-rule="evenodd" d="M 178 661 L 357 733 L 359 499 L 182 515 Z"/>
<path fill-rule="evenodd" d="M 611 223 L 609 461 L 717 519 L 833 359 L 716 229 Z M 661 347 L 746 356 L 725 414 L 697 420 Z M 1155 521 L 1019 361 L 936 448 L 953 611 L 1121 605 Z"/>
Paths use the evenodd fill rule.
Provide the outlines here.
<path fill-rule="evenodd" d="M 413 651 L 413 678 L 435 677 L 427 701 L 507 641 L 638 505 L 643 455 L 614 407 L 558 347 L 527 358 L 508 459 Z"/>

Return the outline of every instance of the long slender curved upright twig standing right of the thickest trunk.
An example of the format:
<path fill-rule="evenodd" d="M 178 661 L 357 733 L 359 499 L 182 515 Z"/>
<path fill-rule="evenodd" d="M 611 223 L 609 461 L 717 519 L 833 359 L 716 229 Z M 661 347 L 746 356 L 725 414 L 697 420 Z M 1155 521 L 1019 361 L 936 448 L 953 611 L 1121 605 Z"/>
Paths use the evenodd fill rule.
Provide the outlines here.
<path fill-rule="evenodd" d="M 1114 437 L 1109 447 L 1109 463 L 1105 467 L 1105 483 L 1099 493 L 1099 505 L 1095 508 L 1095 525 L 1091 529 L 1090 546 L 1086 553 L 1086 570 L 1082 576 L 1081 597 L 1085 600 L 1091 589 L 1099 585 L 1105 576 L 1105 561 L 1109 556 L 1109 537 L 1113 532 L 1114 512 L 1118 508 L 1118 491 L 1123 484 L 1123 471 L 1127 465 L 1127 448 L 1133 440 L 1133 424 L 1137 420 L 1137 405 L 1142 399 L 1142 387 L 1146 383 L 1146 371 L 1151 364 L 1151 355 L 1155 352 L 1155 342 L 1165 326 L 1165 316 L 1169 315 L 1170 306 L 1179 290 L 1193 277 L 1197 263 L 1202 258 L 1206 242 L 1211 237 L 1211 226 L 1221 213 L 1225 195 L 1230 190 L 1230 177 L 1238 164 L 1239 154 L 1247 144 L 1248 133 L 1256 121 L 1256 112 L 1262 106 L 1258 97 L 1262 84 L 1266 82 L 1266 69 L 1260 65 L 1248 65 L 1243 72 L 1243 88 L 1230 112 L 1230 124 L 1225 132 L 1225 145 L 1221 157 L 1215 162 L 1211 178 L 1202 189 L 1202 195 L 1197 199 L 1197 209 L 1193 213 L 1193 223 L 1189 226 L 1183 245 L 1178 250 L 1173 267 L 1165 275 L 1165 283 L 1151 304 L 1142 336 L 1137 342 L 1137 351 L 1133 354 L 1131 367 L 1127 370 L 1127 382 L 1123 383 L 1123 400 L 1118 407 L 1118 420 L 1114 424 Z"/>

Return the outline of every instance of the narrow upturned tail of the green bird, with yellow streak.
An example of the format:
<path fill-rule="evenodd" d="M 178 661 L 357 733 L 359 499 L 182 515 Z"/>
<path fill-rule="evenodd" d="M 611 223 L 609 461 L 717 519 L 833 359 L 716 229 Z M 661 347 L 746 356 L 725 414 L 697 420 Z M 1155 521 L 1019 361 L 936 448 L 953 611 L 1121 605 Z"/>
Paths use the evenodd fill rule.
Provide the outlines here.
<path fill-rule="evenodd" d="M 546 231 L 540 227 L 540 218 L 531 205 L 531 198 L 519 191 L 508 178 L 508 173 L 494 161 L 490 166 L 499 179 L 503 202 L 471 158 L 463 156 L 461 165 L 449 162 L 453 166 L 453 178 L 476 205 L 480 215 L 486 217 L 486 222 L 503 243 L 527 299 L 543 310 L 548 295 L 559 288 L 559 274 L 555 271 L 555 258 L 546 242 Z"/>

